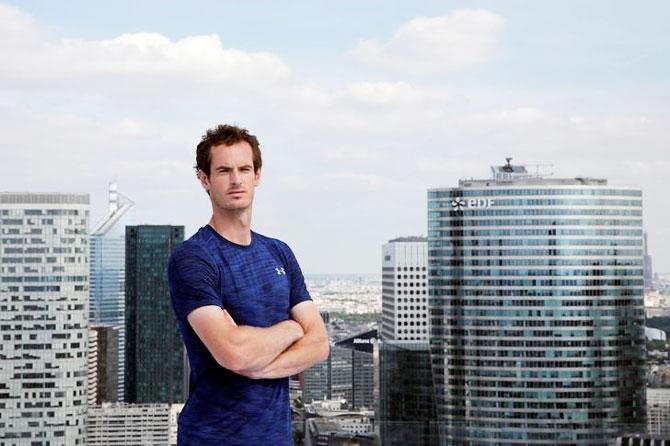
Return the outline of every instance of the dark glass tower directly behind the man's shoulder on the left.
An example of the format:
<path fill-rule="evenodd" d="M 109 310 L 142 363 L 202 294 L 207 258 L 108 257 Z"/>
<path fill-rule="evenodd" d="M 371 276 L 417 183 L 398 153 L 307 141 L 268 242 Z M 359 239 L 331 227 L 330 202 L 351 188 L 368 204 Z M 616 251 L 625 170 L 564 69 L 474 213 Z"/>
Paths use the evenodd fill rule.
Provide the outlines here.
<path fill-rule="evenodd" d="M 129 403 L 180 403 L 187 386 L 185 354 L 167 282 L 183 226 L 126 227 L 126 368 Z"/>

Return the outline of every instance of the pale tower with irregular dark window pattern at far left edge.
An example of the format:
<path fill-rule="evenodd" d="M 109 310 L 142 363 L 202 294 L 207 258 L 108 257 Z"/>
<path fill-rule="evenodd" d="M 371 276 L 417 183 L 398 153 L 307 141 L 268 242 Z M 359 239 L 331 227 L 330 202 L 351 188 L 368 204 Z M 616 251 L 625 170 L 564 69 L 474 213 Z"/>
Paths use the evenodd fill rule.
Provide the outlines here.
<path fill-rule="evenodd" d="M 0 193 L 0 443 L 86 442 L 88 195 Z"/>

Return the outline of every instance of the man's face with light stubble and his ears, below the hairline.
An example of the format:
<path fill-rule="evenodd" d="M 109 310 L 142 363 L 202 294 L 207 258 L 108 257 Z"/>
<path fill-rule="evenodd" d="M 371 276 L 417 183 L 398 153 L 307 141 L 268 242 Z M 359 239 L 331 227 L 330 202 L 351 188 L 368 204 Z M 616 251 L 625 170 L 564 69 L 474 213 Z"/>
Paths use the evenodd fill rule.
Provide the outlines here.
<path fill-rule="evenodd" d="M 211 155 L 209 176 L 201 172 L 200 182 L 209 191 L 212 204 L 222 211 L 250 208 L 261 172 L 254 172 L 249 143 L 213 146 Z"/>

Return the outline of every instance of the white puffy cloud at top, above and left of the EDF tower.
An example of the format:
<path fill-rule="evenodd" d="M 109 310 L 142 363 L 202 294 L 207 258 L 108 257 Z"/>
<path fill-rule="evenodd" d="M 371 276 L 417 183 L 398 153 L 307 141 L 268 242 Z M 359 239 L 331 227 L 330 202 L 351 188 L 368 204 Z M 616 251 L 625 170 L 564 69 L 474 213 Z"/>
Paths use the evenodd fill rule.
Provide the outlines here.
<path fill-rule="evenodd" d="M 352 54 L 370 65 L 410 74 L 433 74 L 479 65 L 497 49 L 504 19 L 485 9 L 458 9 L 417 17 L 387 42 L 364 40 Z"/>

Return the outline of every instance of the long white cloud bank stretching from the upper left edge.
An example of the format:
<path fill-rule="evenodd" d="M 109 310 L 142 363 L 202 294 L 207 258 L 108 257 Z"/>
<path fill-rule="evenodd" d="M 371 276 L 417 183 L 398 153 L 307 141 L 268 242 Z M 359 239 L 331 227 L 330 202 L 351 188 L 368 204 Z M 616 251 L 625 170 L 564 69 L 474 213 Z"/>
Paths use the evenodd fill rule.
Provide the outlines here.
<path fill-rule="evenodd" d="M 254 84 L 284 81 L 290 68 L 268 52 L 225 48 L 217 35 L 171 40 L 159 33 L 123 34 L 110 40 L 87 41 L 50 37 L 28 15 L 0 5 L 0 78 L 21 84 L 59 82 L 118 83 L 133 80 L 160 83 Z"/>

